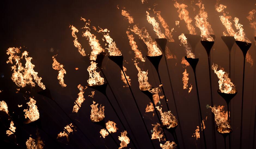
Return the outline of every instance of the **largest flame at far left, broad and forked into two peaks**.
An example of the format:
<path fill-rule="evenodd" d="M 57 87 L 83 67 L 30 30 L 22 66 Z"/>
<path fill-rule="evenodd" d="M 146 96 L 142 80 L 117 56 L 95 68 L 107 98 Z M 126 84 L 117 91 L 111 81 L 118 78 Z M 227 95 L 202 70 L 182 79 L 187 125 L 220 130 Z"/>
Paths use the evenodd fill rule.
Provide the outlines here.
<path fill-rule="evenodd" d="M 10 55 L 10 57 L 6 63 L 10 62 L 11 64 L 13 64 L 12 60 L 16 62 L 16 64 L 11 67 L 11 69 L 13 70 L 13 74 L 11 77 L 13 82 L 20 87 L 25 87 L 26 84 L 31 84 L 31 86 L 34 87 L 34 79 L 38 86 L 40 86 L 42 89 L 45 89 L 45 86 L 41 82 L 42 78 L 38 77 L 38 72 L 35 72 L 34 70 L 35 65 L 31 63 L 32 57 L 27 57 L 27 51 L 24 51 L 21 57 L 17 55 L 18 53 L 20 53 L 20 48 L 12 47 L 8 48 L 7 50 L 7 55 Z M 25 57 L 26 60 L 25 67 L 23 67 L 21 63 L 21 59 L 23 59 L 23 56 Z"/>

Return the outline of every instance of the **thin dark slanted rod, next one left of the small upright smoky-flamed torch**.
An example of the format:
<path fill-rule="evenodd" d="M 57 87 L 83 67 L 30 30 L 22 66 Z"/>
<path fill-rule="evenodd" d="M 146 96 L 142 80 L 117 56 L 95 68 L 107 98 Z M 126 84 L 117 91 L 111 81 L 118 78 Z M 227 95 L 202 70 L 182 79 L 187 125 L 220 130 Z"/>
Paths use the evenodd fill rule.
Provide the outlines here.
<path fill-rule="evenodd" d="M 172 80 L 171 80 L 171 77 L 170 77 L 170 72 L 169 72 L 169 68 L 168 68 L 168 64 L 167 64 L 165 54 L 164 54 L 164 60 L 165 60 L 165 64 L 166 64 L 166 68 L 167 68 L 167 72 L 168 72 L 168 77 L 169 77 L 169 81 L 170 81 L 170 85 L 171 85 L 172 97 L 173 97 L 174 106 L 175 106 L 175 110 L 176 110 L 176 114 L 177 114 L 177 119 L 178 119 L 178 122 L 179 122 L 179 131 L 181 132 L 181 141 L 182 141 L 183 148 L 185 149 L 186 147 L 185 147 L 184 137 L 183 137 L 183 133 L 182 133 L 182 129 L 181 129 L 181 121 L 179 120 L 179 112 L 178 112 L 178 108 L 177 108 L 177 105 L 176 105 L 176 100 L 175 100 L 175 96 L 174 96 L 174 92 L 173 92 L 173 88 L 172 88 Z M 177 140 L 178 140 L 178 138 L 177 138 Z"/>

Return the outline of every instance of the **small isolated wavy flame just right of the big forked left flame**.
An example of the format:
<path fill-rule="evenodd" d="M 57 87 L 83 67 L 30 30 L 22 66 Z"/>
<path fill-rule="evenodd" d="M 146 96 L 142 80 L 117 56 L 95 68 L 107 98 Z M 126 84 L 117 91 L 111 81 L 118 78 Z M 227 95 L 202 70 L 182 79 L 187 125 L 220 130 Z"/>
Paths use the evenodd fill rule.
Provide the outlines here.
<path fill-rule="evenodd" d="M 63 64 L 60 64 L 59 62 L 57 62 L 57 60 L 55 59 L 55 56 L 53 56 L 53 69 L 59 70 L 59 75 L 57 77 L 57 79 L 59 80 L 59 84 L 62 87 L 66 87 L 67 85 L 64 83 L 64 74 L 66 74 L 66 70 L 63 68 L 64 67 Z"/>

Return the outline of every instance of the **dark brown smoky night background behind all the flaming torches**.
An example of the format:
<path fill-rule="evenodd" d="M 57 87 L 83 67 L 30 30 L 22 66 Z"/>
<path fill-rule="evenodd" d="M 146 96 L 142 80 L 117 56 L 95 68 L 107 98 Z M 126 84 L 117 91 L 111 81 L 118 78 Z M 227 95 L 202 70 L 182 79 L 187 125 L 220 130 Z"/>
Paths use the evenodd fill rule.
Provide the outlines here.
<path fill-rule="evenodd" d="M 198 7 L 195 5 L 196 2 L 191 1 L 178 1 L 179 3 L 184 3 L 188 5 L 188 11 L 190 12 L 190 17 L 193 19 L 196 14 L 198 14 Z M 197 96 L 195 90 L 194 75 L 191 67 L 187 67 L 187 72 L 189 73 L 189 83 L 192 83 L 193 89 L 190 94 L 188 90 L 182 89 L 182 72 L 184 68 L 182 67 L 181 58 L 185 56 L 183 47 L 179 46 L 178 36 L 181 33 L 189 33 L 185 22 L 179 19 L 177 9 L 173 6 L 173 1 L 163 0 L 163 1 L 149 1 L 146 4 L 141 4 L 139 0 L 133 1 L 2 1 L 1 2 L 1 78 L 0 78 L 0 93 L 1 101 L 4 100 L 8 105 L 8 110 L 10 115 L 14 119 L 19 121 L 24 121 L 23 109 L 26 108 L 25 99 L 22 93 L 15 93 L 17 86 L 11 80 L 11 65 L 6 64 L 8 56 L 6 50 L 9 47 L 22 47 L 22 52 L 27 50 L 29 56 L 32 57 L 32 63 L 35 65 L 35 71 L 38 72 L 38 76 L 42 77 L 42 82 L 46 88 L 50 89 L 51 94 L 57 103 L 71 116 L 72 119 L 78 124 L 82 131 L 86 134 L 90 141 L 97 148 L 117 148 L 110 136 L 105 139 L 100 138 L 99 131 L 102 129 L 100 126 L 90 122 L 90 105 L 92 101 L 103 104 L 105 106 L 105 119 L 111 120 L 117 123 L 118 131 L 113 133 L 115 140 L 119 143 L 118 136 L 120 132 L 124 131 L 117 116 L 111 109 L 105 96 L 99 92 L 95 92 L 94 98 L 88 97 L 91 95 L 92 89 L 86 89 L 84 96 L 86 100 L 82 103 L 82 106 L 78 113 L 72 113 L 72 108 L 74 106 L 74 101 L 78 97 L 77 94 L 79 90 L 77 85 L 81 84 L 83 86 L 87 85 L 87 79 L 89 77 L 87 72 L 87 67 L 89 63 L 85 63 L 81 60 L 81 54 L 78 53 L 77 48 L 74 47 L 74 38 L 71 35 L 71 30 L 69 25 L 74 25 L 79 30 L 77 34 L 78 41 L 81 43 L 82 47 L 87 54 L 90 54 L 91 48 L 88 44 L 86 38 L 81 37 L 84 22 L 80 21 L 80 17 L 90 19 L 91 26 L 99 26 L 101 28 L 108 28 L 110 31 L 110 36 L 117 43 L 117 47 L 121 50 L 124 60 L 127 62 L 124 66 L 127 68 L 126 74 L 132 79 L 132 90 L 135 94 L 135 98 L 139 104 L 139 108 L 144 114 L 144 119 L 149 128 L 150 132 L 153 129 L 151 124 L 156 124 L 158 122 L 156 116 L 152 117 L 152 112 L 145 113 L 146 105 L 150 100 L 140 92 L 139 83 L 137 78 L 138 71 L 133 64 L 132 58 L 134 53 L 130 48 L 129 40 L 126 35 L 126 30 L 130 24 L 121 15 L 121 8 L 126 7 L 126 10 L 134 17 L 135 24 L 139 24 L 139 27 L 146 27 L 152 38 L 157 38 L 153 31 L 153 27 L 146 20 L 147 7 L 153 8 L 153 4 L 157 3 L 156 10 L 161 11 L 162 17 L 166 20 L 170 28 L 174 27 L 174 32 L 172 33 L 175 45 L 170 46 L 167 43 L 170 51 L 176 55 L 177 59 L 169 59 L 167 61 L 170 70 L 170 77 L 172 79 L 173 90 L 176 97 L 177 108 L 179 111 L 180 122 L 178 128 L 176 129 L 179 143 L 181 144 L 181 134 L 180 128 L 182 128 L 185 147 L 186 148 L 200 148 L 200 142 L 203 144 L 203 139 L 200 138 L 196 140 L 191 137 L 195 132 L 196 126 L 199 125 L 198 120 L 198 104 Z M 205 4 L 205 11 L 208 12 L 208 21 L 212 25 L 212 29 L 215 32 L 216 39 L 214 47 L 211 51 L 212 62 L 225 68 L 228 71 L 228 49 L 224 42 L 221 40 L 223 31 L 225 27 L 222 25 L 218 13 L 215 11 L 214 5 L 215 1 L 203 1 Z M 119 10 L 117 5 L 119 4 Z M 243 24 L 243 28 L 246 36 L 252 41 L 252 46 L 249 50 L 252 58 L 255 60 L 255 43 L 254 43 L 254 30 L 249 27 L 249 21 L 246 18 L 248 12 L 255 9 L 255 1 L 245 0 L 245 1 L 221 1 L 220 4 L 226 5 L 226 11 L 229 15 L 238 17 L 239 23 Z M 193 12 L 193 8 L 196 11 Z M 153 12 L 150 11 L 150 16 L 153 17 Z M 156 17 L 156 16 L 154 16 Z M 157 20 L 157 19 L 156 19 Z M 179 27 L 175 26 L 175 21 L 179 20 Z M 233 21 L 232 21 L 233 23 Z M 194 25 L 194 19 L 192 24 Z M 234 24 L 234 23 L 233 23 Z M 233 26 L 235 29 L 235 27 Z M 163 29 L 162 29 L 163 31 Z M 235 30 L 236 31 L 236 30 Z M 200 35 L 199 29 L 196 27 L 197 35 Z M 105 43 L 101 40 L 102 35 L 92 31 L 92 34 L 97 36 L 101 46 L 105 48 Z M 139 41 L 137 35 L 134 35 L 135 41 L 137 42 L 139 50 L 142 51 L 143 56 L 147 55 L 147 50 L 143 48 L 143 45 Z M 25 48 L 26 47 L 26 48 Z M 50 49 L 53 48 L 54 51 L 51 52 Z M 106 51 L 107 52 L 107 51 Z M 64 65 L 64 69 L 67 74 L 64 77 L 64 81 L 67 87 L 62 88 L 57 80 L 58 72 L 52 69 L 52 56 L 58 54 L 56 57 L 57 61 Z M 210 88 L 209 88 L 209 73 L 208 73 L 208 62 L 207 55 L 203 46 L 199 43 L 196 47 L 195 55 L 199 58 L 199 63 L 197 65 L 197 78 L 199 87 L 199 96 L 201 102 L 201 108 L 203 113 L 203 118 L 208 116 L 208 120 L 205 122 L 206 129 L 206 142 L 207 147 L 212 148 L 213 145 L 213 134 L 211 128 L 211 109 L 207 109 L 206 105 L 210 105 Z M 166 92 L 166 97 L 169 100 L 169 105 L 172 113 L 176 115 L 175 107 L 173 104 L 173 98 L 170 89 L 170 83 L 168 79 L 168 74 L 166 66 L 164 64 L 164 59 L 160 62 L 160 76 L 163 82 L 164 90 Z M 158 86 L 159 80 L 157 78 L 157 73 L 155 69 L 152 69 L 151 63 L 146 59 L 145 63 L 140 63 L 139 66 L 143 70 L 148 70 L 149 82 L 154 86 Z M 78 67 L 79 70 L 75 70 Z M 138 110 L 136 109 L 135 103 L 133 102 L 131 93 L 128 88 L 123 88 L 124 83 L 120 79 L 120 69 L 119 67 L 105 58 L 103 61 L 103 67 L 108 78 L 109 84 L 114 90 L 118 101 L 127 117 L 129 124 L 135 132 L 135 138 L 139 142 L 140 148 L 152 148 L 150 140 L 147 136 L 146 130 L 143 126 L 141 118 L 139 117 Z M 232 148 L 238 148 L 239 146 L 239 132 L 240 132 L 240 110 L 241 110 L 241 96 L 242 96 L 242 73 L 243 73 L 243 56 L 239 47 L 234 44 L 231 53 L 231 81 L 236 85 L 238 93 L 234 99 L 231 101 L 231 126 L 233 132 L 231 134 L 231 144 Z M 97 70 L 99 71 L 99 70 Z M 244 113 L 243 113 L 243 138 L 242 145 L 243 148 L 252 147 L 252 135 L 253 135 L 253 123 L 254 123 L 254 111 L 255 111 L 255 93 L 254 91 L 254 77 L 255 77 L 255 64 L 250 67 L 249 63 L 245 66 L 245 95 L 244 95 Z M 218 78 L 212 73 L 213 82 L 213 98 L 215 105 L 224 105 L 226 109 L 225 101 L 217 94 L 218 89 Z M 117 103 L 114 101 L 113 95 L 107 88 L 107 95 L 112 101 L 114 107 L 116 107 L 117 112 L 120 113 L 120 109 L 117 108 Z M 44 96 L 35 95 L 36 105 L 38 106 L 40 112 L 40 122 L 42 129 L 39 129 L 42 140 L 45 143 L 45 148 L 60 148 L 56 142 L 54 142 L 57 134 L 63 131 L 70 120 L 63 114 L 61 109 L 59 109 L 50 99 Z M 163 103 L 163 110 L 166 111 L 166 105 L 164 104 L 164 99 L 161 99 Z M 17 105 L 23 104 L 22 108 L 18 108 Z M 121 116 L 121 114 L 120 114 Z M 121 116 L 121 119 L 126 125 L 126 122 Z M 10 122 L 8 122 L 10 124 Z M 29 135 L 32 138 L 36 138 L 36 127 L 33 124 L 25 125 L 20 123 L 19 125 L 14 122 L 14 126 L 17 127 L 16 131 L 22 132 L 21 136 L 17 137 L 17 143 L 20 147 L 26 147 L 26 140 Z M 20 127 L 19 127 L 20 126 Z M 8 125 L 9 127 L 9 125 Z M 127 127 L 127 126 L 126 126 Z M 45 132 L 47 132 L 51 137 L 49 137 Z M 4 130 L 6 131 L 6 129 Z M 130 132 L 128 130 L 128 132 Z M 169 141 L 174 141 L 171 134 L 166 132 Z M 5 134 L 4 134 L 5 135 Z M 224 148 L 223 137 L 216 132 L 217 138 L 217 148 Z M 228 139 L 227 139 L 228 141 Z M 64 143 L 62 143 L 64 142 Z M 72 135 L 70 135 L 69 143 L 62 141 L 60 145 L 64 148 L 93 148 L 89 141 L 82 135 L 82 133 L 77 130 Z M 160 142 L 158 140 L 153 140 L 156 148 L 160 148 Z M 164 144 L 164 142 L 161 142 Z M 133 144 L 128 145 L 129 148 L 134 148 Z M 181 145 L 181 148 L 184 148 Z"/>

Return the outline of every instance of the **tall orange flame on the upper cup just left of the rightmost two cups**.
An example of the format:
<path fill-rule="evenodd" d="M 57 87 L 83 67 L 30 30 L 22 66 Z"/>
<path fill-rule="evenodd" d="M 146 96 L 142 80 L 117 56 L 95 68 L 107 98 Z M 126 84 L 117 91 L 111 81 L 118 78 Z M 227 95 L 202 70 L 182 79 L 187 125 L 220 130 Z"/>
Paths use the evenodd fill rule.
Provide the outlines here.
<path fill-rule="evenodd" d="M 199 10 L 199 15 L 196 15 L 195 17 L 195 24 L 196 27 L 198 27 L 201 31 L 201 37 L 203 37 L 203 40 L 205 41 L 214 41 L 213 38 L 210 36 L 210 34 L 214 34 L 211 25 L 207 21 L 208 14 L 205 11 L 204 4 L 202 4 L 201 1 L 199 1 L 198 7 L 200 8 Z"/>

